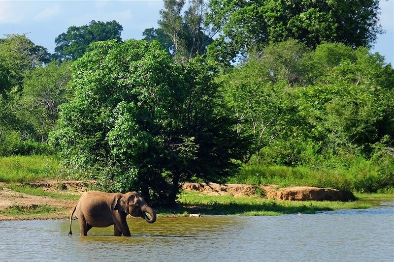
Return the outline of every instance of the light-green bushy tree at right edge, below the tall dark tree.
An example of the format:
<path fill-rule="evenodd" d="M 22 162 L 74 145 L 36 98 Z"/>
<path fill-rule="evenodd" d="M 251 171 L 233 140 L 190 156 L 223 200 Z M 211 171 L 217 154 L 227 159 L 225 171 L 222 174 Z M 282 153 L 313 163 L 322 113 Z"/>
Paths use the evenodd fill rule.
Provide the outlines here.
<path fill-rule="evenodd" d="M 369 155 L 375 143 L 394 137 L 394 70 L 383 57 L 326 43 L 304 59 L 320 76 L 300 90 L 300 107 L 326 151 Z"/>

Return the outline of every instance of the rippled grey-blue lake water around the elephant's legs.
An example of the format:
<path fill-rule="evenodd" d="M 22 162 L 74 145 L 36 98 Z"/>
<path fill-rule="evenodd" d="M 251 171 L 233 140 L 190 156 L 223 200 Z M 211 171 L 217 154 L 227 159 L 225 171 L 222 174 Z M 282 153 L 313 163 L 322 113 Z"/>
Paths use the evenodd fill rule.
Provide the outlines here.
<path fill-rule="evenodd" d="M 68 220 L 0 221 L 0 261 L 394 261 L 394 201 L 283 216 L 129 219 L 68 236 Z"/>

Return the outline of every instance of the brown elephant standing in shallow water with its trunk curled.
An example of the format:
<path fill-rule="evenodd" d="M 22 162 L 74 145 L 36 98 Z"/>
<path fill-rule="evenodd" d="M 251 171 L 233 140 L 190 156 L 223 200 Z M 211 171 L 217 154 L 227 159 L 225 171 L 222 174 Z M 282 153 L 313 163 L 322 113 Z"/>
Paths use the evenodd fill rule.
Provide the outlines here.
<path fill-rule="evenodd" d="M 114 225 L 114 235 L 131 236 L 126 216 L 142 217 L 148 223 L 155 223 L 156 212 L 146 204 L 137 192 L 105 193 L 89 191 L 78 200 L 70 216 L 70 232 L 72 215 L 77 211 L 81 235 L 87 235 L 93 228 L 105 228 Z M 147 216 L 148 213 L 151 218 Z"/>

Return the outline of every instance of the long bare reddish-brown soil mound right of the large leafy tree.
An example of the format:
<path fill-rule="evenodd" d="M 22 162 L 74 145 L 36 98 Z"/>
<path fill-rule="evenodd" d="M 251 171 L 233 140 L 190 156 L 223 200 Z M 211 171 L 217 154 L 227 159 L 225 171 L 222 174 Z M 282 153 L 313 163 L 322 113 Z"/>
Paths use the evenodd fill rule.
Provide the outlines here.
<path fill-rule="evenodd" d="M 184 183 L 183 190 L 199 191 L 208 195 L 232 195 L 234 197 L 251 197 L 261 194 L 268 199 L 277 200 L 294 200 L 294 201 L 349 201 L 353 200 L 353 194 L 344 194 L 342 191 L 332 188 L 319 188 L 309 186 L 296 186 L 280 188 L 277 185 L 244 185 L 244 184 L 226 184 L 216 183 L 199 184 Z"/>

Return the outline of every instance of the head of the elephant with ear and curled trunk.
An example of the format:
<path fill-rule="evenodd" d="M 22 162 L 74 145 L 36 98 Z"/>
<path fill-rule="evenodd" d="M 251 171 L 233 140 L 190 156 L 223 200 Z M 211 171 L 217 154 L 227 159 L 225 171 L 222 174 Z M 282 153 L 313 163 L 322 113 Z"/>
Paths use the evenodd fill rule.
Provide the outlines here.
<path fill-rule="evenodd" d="M 142 217 L 148 223 L 155 223 L 156 213 L 137 192 L 128 192 L 121 195 L 114 208 L 123 210 L 134 217 Z M 147 216 L 149 214 L 150 218 Z"/>

